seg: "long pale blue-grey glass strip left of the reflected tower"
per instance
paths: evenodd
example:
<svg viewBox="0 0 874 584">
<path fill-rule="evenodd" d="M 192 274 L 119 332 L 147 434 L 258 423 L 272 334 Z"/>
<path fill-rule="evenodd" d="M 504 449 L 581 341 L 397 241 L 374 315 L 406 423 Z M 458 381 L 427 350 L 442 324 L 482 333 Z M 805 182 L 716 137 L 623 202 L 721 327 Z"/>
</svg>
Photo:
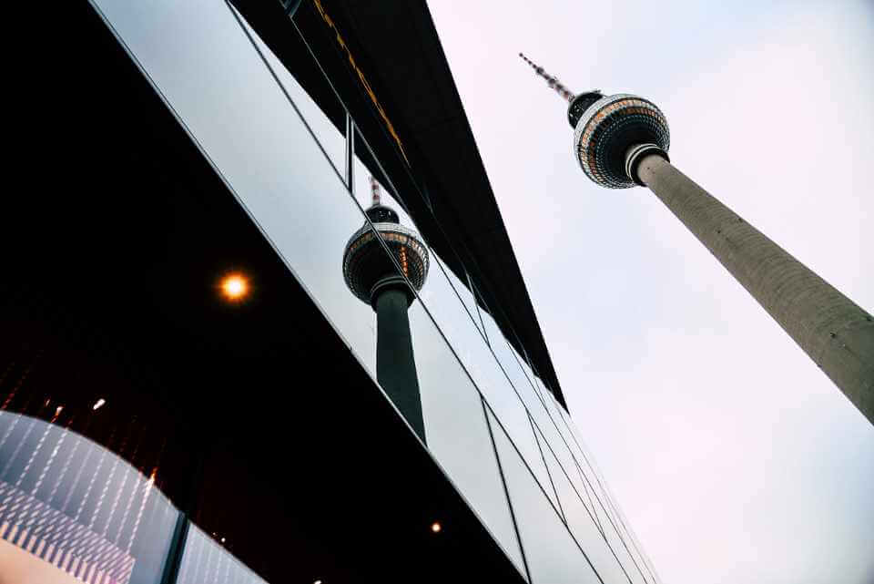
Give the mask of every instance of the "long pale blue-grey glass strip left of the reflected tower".
<svg viewBox="0 0 874 584">
<path fill-rule="evenodd" d="M 188 3 L 102 4 L 291 271 L 375 372 L 374 314 L 342 271 L 346 244 L 364 217 L 233 15 Z M 249 80 L 246 87 L 239 78 Z M 257 288 L 258 274 L 251 279 Z"/>
</svg>

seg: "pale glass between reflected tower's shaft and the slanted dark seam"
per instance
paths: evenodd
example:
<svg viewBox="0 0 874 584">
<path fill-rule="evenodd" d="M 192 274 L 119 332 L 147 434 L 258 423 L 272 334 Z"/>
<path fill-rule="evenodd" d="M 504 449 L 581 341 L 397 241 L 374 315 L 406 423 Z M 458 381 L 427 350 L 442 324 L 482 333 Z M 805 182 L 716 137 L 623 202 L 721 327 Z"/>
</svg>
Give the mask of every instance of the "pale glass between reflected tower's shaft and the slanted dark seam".
<svg viewBox="0 0 874 584">
<path fill-rule="evenodd" d="M 480 395 L 421 302 L 409 316 L 428 448 L 523 573 Z"/>
</svg>

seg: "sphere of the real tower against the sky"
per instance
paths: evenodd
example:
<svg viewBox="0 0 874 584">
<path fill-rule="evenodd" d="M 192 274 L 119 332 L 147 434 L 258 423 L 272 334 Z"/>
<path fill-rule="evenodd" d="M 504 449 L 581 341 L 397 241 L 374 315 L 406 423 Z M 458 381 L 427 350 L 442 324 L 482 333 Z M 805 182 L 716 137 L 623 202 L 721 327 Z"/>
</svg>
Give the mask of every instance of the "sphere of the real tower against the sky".
<svg viewBox="0 0 874 584">
<path fill-rule="evenodd" d="M 638 184 L 635 163 L 644 151 L 656 151 L 667 158 L 671 137 L 667 118 L 662 110 L 643 97 L 627 93 L 599 97 L 582 113 L 574 104 L 585 103 L 595 92 L 580 94 L 568 108 L 568 118 L 574 124 L 576 158 L 589 179 L 608 189 L 628 189 Z M 629 157 L 629 149 L 635 156 Z M 626 168 L 626 161 L 629 163 Z"/>
</svg>

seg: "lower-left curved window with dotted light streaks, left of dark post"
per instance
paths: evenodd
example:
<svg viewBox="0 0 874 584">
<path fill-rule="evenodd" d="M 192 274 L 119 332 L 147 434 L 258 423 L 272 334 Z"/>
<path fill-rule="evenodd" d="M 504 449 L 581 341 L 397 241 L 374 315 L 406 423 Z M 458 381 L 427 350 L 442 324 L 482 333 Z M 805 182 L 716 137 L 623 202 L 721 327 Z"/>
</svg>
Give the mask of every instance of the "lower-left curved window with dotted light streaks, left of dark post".
<svg viewBox="0 0 874 584">
<path fill-rule="evenodd" d="M 63 405 L 43 413 L 0 412 L 3 581 L 159 582 L 179 514 L 155 472 L 73 432 Z"/>
</svg>

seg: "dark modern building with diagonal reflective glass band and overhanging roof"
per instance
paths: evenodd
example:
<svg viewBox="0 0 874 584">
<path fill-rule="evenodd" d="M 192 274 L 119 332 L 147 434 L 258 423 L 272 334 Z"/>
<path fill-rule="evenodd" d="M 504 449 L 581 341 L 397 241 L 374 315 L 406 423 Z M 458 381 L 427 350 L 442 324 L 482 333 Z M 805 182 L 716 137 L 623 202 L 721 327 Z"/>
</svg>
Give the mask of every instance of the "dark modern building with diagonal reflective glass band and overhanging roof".
<svg viewBox="0 0 874 584">
<path fill-rule="evenodd" d="M 0 581 L 659 581 L 424 3 L 51 16 L 5 210 Z"/>
</svg>

